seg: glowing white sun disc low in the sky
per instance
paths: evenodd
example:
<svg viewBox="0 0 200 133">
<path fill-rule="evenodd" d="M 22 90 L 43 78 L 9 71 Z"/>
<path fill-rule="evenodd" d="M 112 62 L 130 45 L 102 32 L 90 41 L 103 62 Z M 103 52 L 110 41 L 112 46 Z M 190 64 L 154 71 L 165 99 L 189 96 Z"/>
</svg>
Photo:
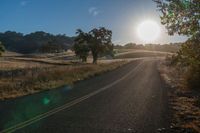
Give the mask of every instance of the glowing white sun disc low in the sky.
<svg viewBox="0 0 200 133">
<path fill-rule="evenodd" d="M 153 42 L 160 35 L 160 26 L 153 20 L 143 21 L 137 27 L 137 35 L 145 43 Z"/>
</svg>

